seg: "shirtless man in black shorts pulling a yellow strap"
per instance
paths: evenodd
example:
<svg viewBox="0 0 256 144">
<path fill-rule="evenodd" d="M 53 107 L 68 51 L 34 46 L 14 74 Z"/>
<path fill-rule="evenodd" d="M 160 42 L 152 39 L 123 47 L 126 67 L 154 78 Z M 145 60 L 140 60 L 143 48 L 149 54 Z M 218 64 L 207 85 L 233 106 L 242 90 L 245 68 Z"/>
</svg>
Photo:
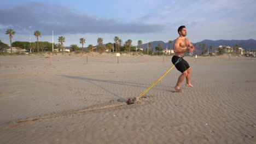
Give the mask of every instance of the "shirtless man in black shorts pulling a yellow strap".
<svg viewBox="0 0 256 144">
<path fill-rule="evenodd" d="M 172 57 L 172 63 L 176 63 L 180 57 L 184 56 L 185 52 L 193 52 L 195 47 L 190 43 L 189 39 L 185 38 L 187 35 L 187 29 L 185 26 L 180 26 L 178 28 L 179 37 L 176 39 L 174 45 L 173 45 L 173 51 L 175 55 Z M 185 61 L 183 58 L 180 62 L 178 62 L 175 67 L 177 70 L 181 71 L 181 75 L 178 78 L 177 84 L 174 87 L 177 91 L 181 86 L 181 83 L 186 78 L 187 83 L 186 86 L 193 87 L 190 83 L 190 77 L 191 77 L 191 68 L 187 61 Z"/>
</svg>

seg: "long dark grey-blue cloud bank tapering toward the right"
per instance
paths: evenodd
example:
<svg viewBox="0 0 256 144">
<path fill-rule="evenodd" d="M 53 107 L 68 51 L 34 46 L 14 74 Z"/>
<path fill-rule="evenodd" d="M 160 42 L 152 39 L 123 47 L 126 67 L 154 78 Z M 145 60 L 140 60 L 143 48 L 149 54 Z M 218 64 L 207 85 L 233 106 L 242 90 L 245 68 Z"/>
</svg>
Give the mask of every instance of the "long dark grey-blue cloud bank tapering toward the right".
<svg viewBox="0 0 256 144">
<path fill-rule="evenodd" d="M 15 11 L 19 9 L 19 11 Z M 79 14 L 59 4 L 24 3 L 10 9 L 0 9 L 0 25 L 13 25 L 15 31 L 29 33 L 41 31 L 50 34 L 52 30 L 62 34 L 74 33 L 147 33 L 160 31 L 160 25 L 146 25 L 137 22 L 120 22 Z M 31 29 L 33 28 L 33 29 Z"/>
</svg>

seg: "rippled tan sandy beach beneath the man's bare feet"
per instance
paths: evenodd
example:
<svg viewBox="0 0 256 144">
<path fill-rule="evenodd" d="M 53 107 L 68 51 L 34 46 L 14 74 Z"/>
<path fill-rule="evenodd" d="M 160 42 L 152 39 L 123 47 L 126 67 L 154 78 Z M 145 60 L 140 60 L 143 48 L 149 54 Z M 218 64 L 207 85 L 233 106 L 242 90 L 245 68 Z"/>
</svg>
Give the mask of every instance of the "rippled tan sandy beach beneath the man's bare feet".
<svg viewBox="0 0 256 144">
<path fill-rule="evenodd" d="M 0 56 L 0 143 L 256 143 L 256 58 Z"/>
</svg>

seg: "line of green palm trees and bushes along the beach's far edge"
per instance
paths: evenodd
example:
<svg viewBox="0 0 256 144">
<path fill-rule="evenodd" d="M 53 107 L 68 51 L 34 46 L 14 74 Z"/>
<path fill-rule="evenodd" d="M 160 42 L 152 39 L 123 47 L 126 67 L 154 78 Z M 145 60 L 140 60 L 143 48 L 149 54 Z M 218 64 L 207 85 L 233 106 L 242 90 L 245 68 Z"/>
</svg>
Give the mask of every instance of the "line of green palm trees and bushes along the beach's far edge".
<svg viewBox="0 0 256 144">
<path fill-rule="evenodd" d="M 15 35 L 15 31 L 13 29 L 7 29 L 7 31 L 5 32 L 5 34 L 8 35 L 9 39 L 10 39 L 10 48 L 11 48 L 11 53 L 12 53 L 12 47 L 21 47 L 22 49 L 26 49 L 26 50 L 32 50 L 33 52 L 40 52 L 40 51 L 53 51 L 53 43 L 49 43 L 48 41 L 39 41 L 39 38 L 41 37 L 41 32 L 40 31 L 34 31 L 34 36 L 36 37 L 37 41 L 33 42 L 33 43 L 29 43 L 27 41 L 15 41 L 14 43 L 12 43 L 12 39 Z M 114 37 L 114 43 L 108 43 L 106 45 L 103 45 L 103 38 L 98 38 L 97 39 L 97 45 L 93 46 L 91 44 L 88 45 L 88 51 L 91 50 L 96 50 L 96 51 L 116 51 L 116 52 L 137 52 L 137 50 L 139 52 L 143 52 L 146 53 L 146 51 L 141 51 L 141 45 L 143 44 L 142 40 L 138 40 L 137 41 L 137 45 L 139 46 L 139 49 L 137 46 L 132 46 L 132 40 L 128 39 L 126 41 L 120 39 L 119 37 L 115 36 Z M 80 38 L 78 40 L 78 42 L 80 44 L 82 44 L 82 48 L 79 48 L 78 45 L 76 44 L 72 44 L 70 45 L 71 50 L 72 51 L 82 51 L 84 52 L 84 45 L 85 45 L 85 38 Z M 59 49 L 63 52 L 64 49 L 64 43 L 66 42 L 65 37 L 60 36 L 58 38 L 58 42 L 59 44 L 54 44 L 54 49 Z M 172 44 L 172 41 L 169 40 L 168 44 Z M 149 43 L 149 53 L 153 53 L 153 49 L 152 49 L 152 44 Z M 206 44 L 195 44 L 195 53 L 198 53 L 200 50 L 197 50 L 197 47 L 199 47 L 201 49 L 201 55 L 205 55 L 208 52 L 213 52 L 216 50 L 216 48 L 214 48 L 213 46 L 210 46 L 210 51 L 208 51 Z M 96 47 L 96 49 L 94 49 L 94 47 Z M 0 51 L 3 51 L 4 49 L 7 49 L 8 45 L 2 43 L 2 41 L 0 41 Z M 157 51 L 159 54 L 161 53 L 162 49 L 162 45 L 158 44 L 158 46 L 154 47 L 155 51 Z M 235 46 L 235 51 L 238 53 L 238 45 Z M 223 53 L 222 49 L 218 49 L 218 53 Z"/>
</svg>

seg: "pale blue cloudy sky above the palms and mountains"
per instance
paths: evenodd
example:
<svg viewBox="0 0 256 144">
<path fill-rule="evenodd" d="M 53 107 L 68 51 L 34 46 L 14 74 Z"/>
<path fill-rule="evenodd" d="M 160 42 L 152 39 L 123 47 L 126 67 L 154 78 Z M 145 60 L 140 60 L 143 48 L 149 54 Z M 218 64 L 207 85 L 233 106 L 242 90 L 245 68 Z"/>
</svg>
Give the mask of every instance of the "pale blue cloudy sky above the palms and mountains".
<svg viewBox="0 0 256 144">
<path fill-rule="evenodd" d="M 94 0 L 94 1 L 3 1 L 0 7 L 0 40 L 9 44 L 8 28 L 16 34 L 13 41 L 40 41 L 66 38 L 65 46 L 113 43 L 115 36 L 125 42 L 174 40 L 177 28 L 187 27 L 187 38 L 196 43 L 204 39 L 256 39 L 255 0 Z"/>
</svg>

